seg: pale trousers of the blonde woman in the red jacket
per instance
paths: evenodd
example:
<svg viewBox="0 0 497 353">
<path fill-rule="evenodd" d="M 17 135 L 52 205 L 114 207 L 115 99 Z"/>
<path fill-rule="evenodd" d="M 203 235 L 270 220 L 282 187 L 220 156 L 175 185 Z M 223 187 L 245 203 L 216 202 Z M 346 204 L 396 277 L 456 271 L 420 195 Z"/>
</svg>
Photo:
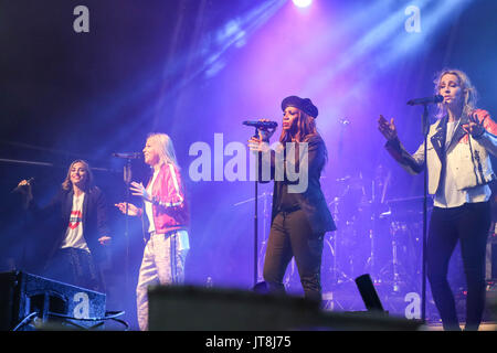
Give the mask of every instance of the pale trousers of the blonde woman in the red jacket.
<svg viewBox="0 0 497 353">
<path fill-rule="evenodd" d="M 182 285 L 189 248 L 186 231 L 152 234 L 147 242 L 136 288 L 138 325 L 141 331 L 148 330 L 148 287 Z"/>
</svg>

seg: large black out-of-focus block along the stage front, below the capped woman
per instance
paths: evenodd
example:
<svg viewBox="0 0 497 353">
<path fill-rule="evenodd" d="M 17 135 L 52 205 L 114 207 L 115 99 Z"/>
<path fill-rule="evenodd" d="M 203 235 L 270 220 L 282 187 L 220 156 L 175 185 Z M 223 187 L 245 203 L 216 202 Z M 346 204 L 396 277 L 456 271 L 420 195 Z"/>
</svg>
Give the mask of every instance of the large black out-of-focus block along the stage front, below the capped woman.
<svg viewBox="0 0 497 353">
<path fill-rule="evenodd" d="M 364 331 L 409 330 L 420 322 L 374 312 L 321 310 L 292 296 L 193 286 L 152 286 L 148 290 L 150 331 Z"/>
</svg>

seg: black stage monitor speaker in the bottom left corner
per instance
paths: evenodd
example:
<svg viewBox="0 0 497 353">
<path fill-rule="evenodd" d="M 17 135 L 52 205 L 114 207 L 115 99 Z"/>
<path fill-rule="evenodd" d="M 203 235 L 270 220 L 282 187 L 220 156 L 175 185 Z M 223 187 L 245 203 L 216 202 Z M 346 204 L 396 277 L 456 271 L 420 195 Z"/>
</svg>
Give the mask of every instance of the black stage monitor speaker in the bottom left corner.
<svg viewBox="0 0 497 353">
<path fill-rule="evenodd" d="M 104 328 L 106 296 L 23 271 L 0 272 L 0 330 Z"/>
</svg>

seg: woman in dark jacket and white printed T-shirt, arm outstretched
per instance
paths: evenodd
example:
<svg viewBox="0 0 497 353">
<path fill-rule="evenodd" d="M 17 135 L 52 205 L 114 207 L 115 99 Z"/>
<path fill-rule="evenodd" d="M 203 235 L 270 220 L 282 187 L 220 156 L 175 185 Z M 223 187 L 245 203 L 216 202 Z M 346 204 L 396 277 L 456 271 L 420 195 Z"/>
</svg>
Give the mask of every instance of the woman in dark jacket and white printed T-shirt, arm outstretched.
<svg viewBox="0 0 497 353">
<path fill-rule="evenodd" d="M 33 200 L 31 185 L 19 183 L 28 208 L 46 222 L 55 217 L 55 232 L 44 240 L 49 258 L 44 276 L 70 285 L 104 291 L 99 264 L 106 259 L 103 245 L 110 242 L 104 194 L 93 183 L 87 162 L 71 163 L 59 193 L 44 207 Z"/>
</svg>

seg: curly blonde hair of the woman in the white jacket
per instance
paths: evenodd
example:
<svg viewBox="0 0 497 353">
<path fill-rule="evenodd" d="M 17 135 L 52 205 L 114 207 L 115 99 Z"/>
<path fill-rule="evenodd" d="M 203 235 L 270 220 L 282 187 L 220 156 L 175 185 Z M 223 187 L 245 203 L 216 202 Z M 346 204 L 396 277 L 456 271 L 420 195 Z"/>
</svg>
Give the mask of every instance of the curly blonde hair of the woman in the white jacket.
<svg viewBox="0 0 497 353">
<path fill-rule="evenodd" d="M 448 74 L 456 75 L 457 78 L 459 78 L 461 89 L 463 90 L 464 95 L 463 116 L 469 116 L 476 109 L 478 93 L 476 92 L 475 86 L 473 86 L 469 77 L 463 71 L 456 68 L 444 68 L 438 72 L 435 76 L 435 79 L 433 81 L 433 83 L 435 84 L 435 95 L 440 94 L 438 86 L 442 77 Z M 436 117 L 440 119 L 443 118 L 446 114 L 447 109 L 445 105 L 438 103 Z"/>
</svg>

